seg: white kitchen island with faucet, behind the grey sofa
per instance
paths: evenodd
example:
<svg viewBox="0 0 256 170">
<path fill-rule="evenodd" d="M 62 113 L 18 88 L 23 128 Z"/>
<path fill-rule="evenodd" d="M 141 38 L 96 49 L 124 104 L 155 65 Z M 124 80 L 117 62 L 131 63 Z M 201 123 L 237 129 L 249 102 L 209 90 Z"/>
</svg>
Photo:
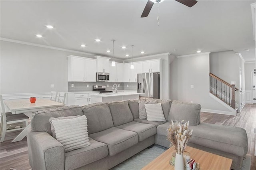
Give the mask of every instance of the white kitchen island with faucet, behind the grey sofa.
<svg viewBox="0 0 256 170">
<path fill-rule="evenodd" d="M 139 95 L 144 93 L 136 93 L 131 91 L 118 91 L 115 93 L 102 93 L 102 94 L 91 94 L 92 103 L 97 102 L 109 102 L 116 100 L 128 100 L 128 99 L 138 99 Z"/>
</svg>

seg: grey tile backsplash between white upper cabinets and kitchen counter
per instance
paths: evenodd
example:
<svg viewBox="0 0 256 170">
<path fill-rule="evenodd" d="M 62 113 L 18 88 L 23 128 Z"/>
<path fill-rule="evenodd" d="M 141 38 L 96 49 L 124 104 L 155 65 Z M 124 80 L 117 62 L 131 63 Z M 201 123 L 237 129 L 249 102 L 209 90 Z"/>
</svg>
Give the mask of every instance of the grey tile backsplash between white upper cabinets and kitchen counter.
<svg viewBox="0 0 256 170">
<path fill-rule="evenodd" d="M 74 87 L 71 87 L 71 85 L 74 85 Z M 119 84 L 118 90 L 134 90 L 136 91 L 136 83 L 116 83 Z M 89 87 L 87 87 L 89 85 Z M 68 92 L 74 92 L 74 91 L 92 91 L 93 85 L 105 85 L 106 90 L 112 90 L 112 87 L 114 83 L 110 82 L 68 82 Z M 125 85 L 125 87 L 124 87 Z M 127 85 L 129 87 L 127 87 Z M 108 87 L 107 87 L 108 86 Z"/>
</svg>

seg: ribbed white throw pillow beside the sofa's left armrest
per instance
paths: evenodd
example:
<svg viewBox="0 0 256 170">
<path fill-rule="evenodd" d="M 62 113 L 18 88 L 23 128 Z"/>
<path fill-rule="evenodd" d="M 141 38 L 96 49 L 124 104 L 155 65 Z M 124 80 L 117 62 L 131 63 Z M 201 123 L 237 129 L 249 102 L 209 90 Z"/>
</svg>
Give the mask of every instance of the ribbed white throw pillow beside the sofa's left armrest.
<svg viewBox="0 0 256 170">
<path fill-rule="evenodd" d="M 87 132 L 87 118 L 82 116 L 51 117 L 52 135 L 65 147 L 65 151 L 90 145 Z"/>
</svg>

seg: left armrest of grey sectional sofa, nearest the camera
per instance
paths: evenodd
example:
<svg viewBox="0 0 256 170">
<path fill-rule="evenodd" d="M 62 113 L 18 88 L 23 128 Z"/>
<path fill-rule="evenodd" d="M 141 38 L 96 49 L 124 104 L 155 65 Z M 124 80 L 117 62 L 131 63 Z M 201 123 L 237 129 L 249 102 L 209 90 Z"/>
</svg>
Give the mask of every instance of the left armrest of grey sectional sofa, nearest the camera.
<svg viewBox="0 0 256 170">
<path fill-rule="evenodd" d="M 28 128 L 28 155 L 32 169 L 64 170 L 65 148 L 47 132 L 34 132 Z"/>
</svg>

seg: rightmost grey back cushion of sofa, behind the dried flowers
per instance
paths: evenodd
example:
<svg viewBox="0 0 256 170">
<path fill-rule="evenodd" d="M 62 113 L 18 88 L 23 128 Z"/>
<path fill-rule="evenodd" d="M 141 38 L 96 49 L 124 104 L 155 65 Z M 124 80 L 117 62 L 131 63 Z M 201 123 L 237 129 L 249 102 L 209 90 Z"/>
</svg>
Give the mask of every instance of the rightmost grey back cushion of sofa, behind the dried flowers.
<svg viewBox="0 0 256 170">
<path fill-rule="evenodd" d="M 200 123 L 201 105 L 196 103 L 187 103 L 182 101 L 173 101 L 168 121 L 185 122 L 189 121 L 189 125 L 198 125 Z"/>
</svg>

